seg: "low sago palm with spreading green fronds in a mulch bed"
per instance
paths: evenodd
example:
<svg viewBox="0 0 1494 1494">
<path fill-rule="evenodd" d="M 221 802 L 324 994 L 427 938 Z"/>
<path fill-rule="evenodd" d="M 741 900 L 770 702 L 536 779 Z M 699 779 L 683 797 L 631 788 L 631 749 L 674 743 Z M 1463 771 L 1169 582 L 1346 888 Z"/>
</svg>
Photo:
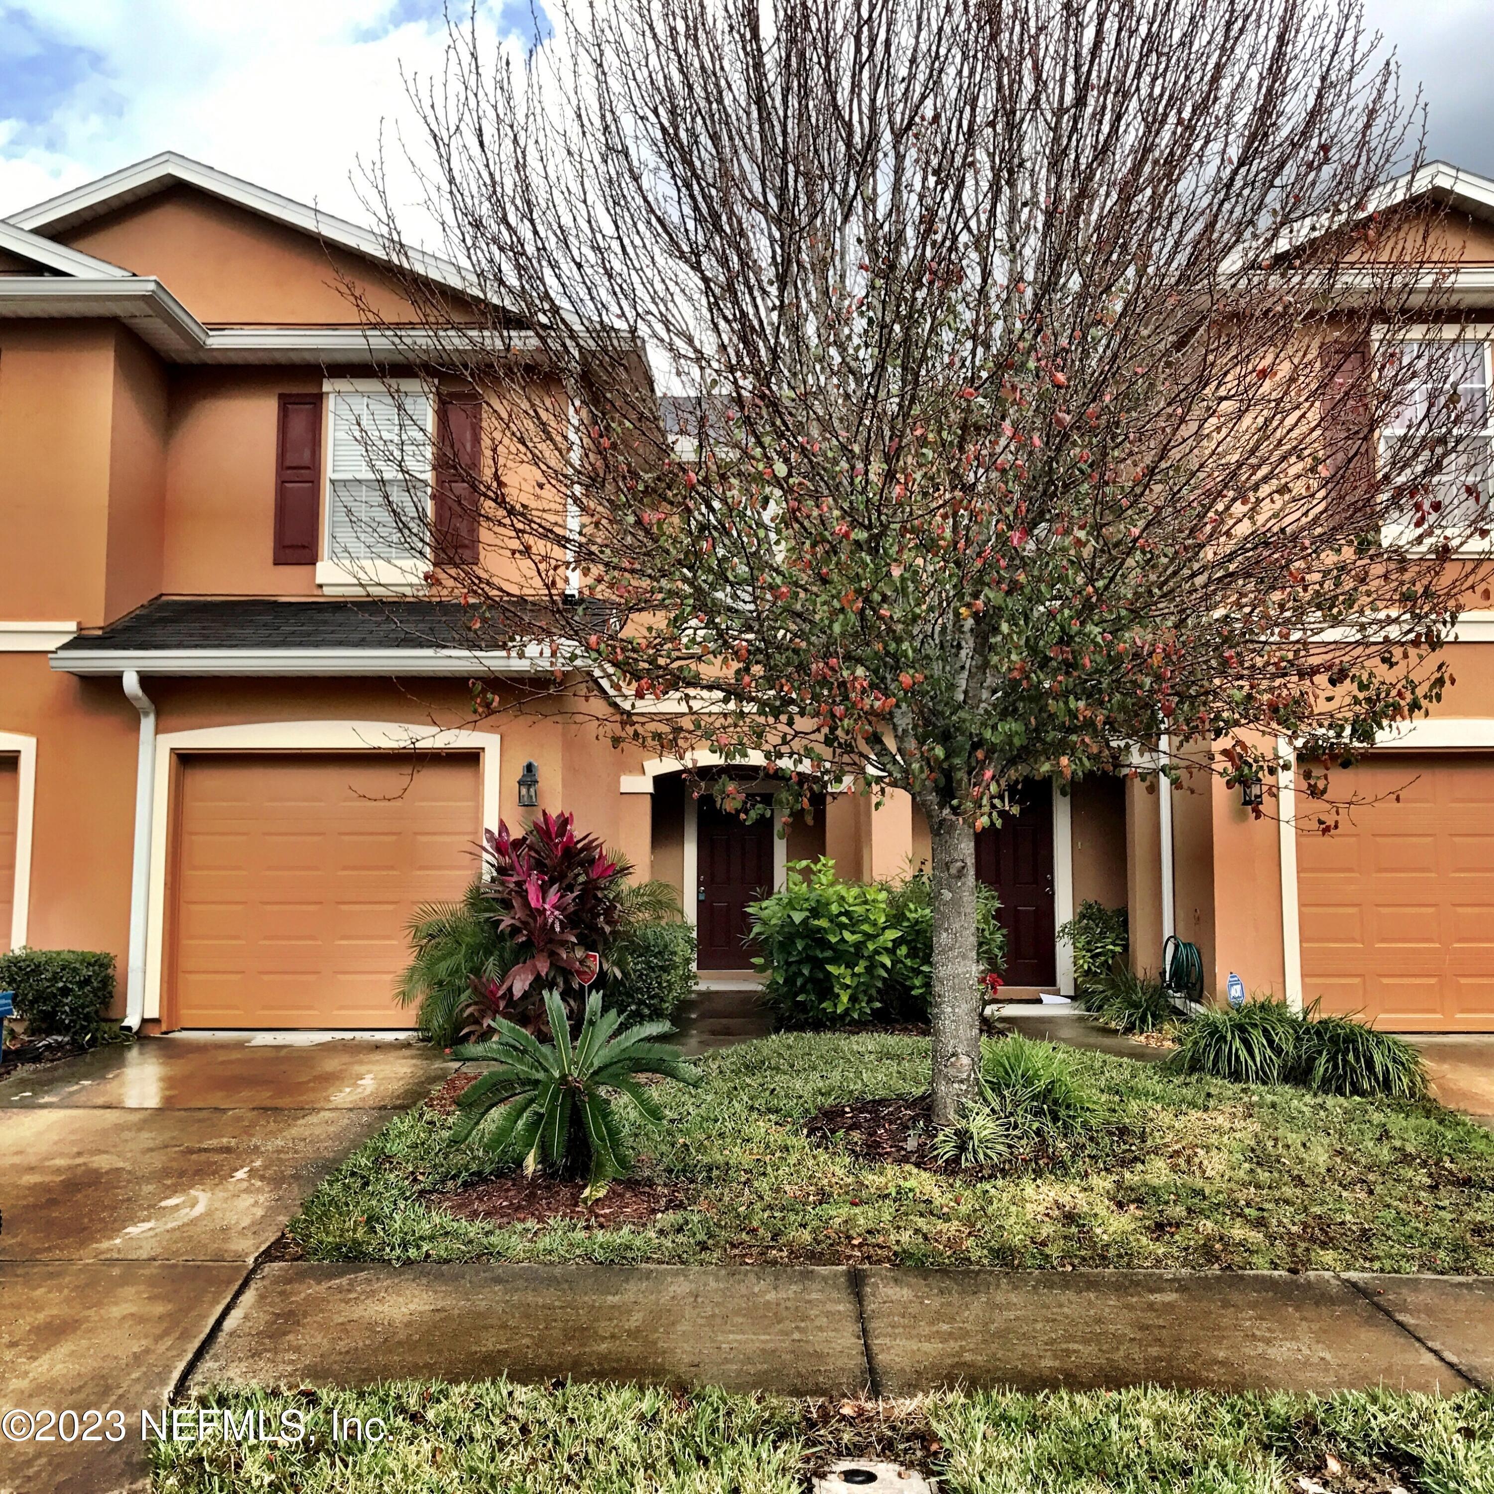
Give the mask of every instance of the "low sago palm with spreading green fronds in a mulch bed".
<svg viewBox="0 0 1494 1494">
<path fill-rule="evenodd" d="M 556 992 L 545 992 L 545 1008 L 554 1034 L 551 1043 L 499 1020 L 490 1041 L 456 1050 L 457 1058 L 493 1068 L 457 1098 L 460 1113 L 451 1140 L 456 1144 L 471 1140 L 499 1110 L 483 1137 L 489 1150 L 523 1156 L 526 1176 L 539 1167 L 562 1176 L 584 1173 L 587 1186 L 581 1197 L 590 1203 L 632 1165 L 607 1092 L 627 1095 L 644 1119 L 659 1126 L 663 1110 L 636 1076 L 663 1074 L 686 1085 L 701 1080 L 677 1047 L 651 1041 L 672 1031 L 668 1022 L 641 1022 L 617 1032 L 622 1017 L 604 1011 L 601 995 L 593 992 L 572 1041 Z"/>
</svg>

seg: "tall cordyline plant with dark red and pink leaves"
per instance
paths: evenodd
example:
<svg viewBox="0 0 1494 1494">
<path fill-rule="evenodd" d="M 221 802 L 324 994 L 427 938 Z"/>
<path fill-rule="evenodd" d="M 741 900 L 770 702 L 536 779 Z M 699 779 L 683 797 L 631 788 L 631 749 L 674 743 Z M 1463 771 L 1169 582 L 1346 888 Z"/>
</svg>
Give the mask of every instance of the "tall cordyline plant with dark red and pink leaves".
<svg viewBox="0 0 1494 1494">
<path fill-rule="evenodd" d="M 610 856 L 598 837 L 577 835 L 569 813 L 547 810 L 517 837 L 500 822 L 484 840 L 487 893 L 520 958 L 478 994 L 496 1016 L 509 1016 L 532 986 L 574 1004 L 602 971 L 604 950 L 622 925 L 617 892 L 626 862 Z"/>
</svg>

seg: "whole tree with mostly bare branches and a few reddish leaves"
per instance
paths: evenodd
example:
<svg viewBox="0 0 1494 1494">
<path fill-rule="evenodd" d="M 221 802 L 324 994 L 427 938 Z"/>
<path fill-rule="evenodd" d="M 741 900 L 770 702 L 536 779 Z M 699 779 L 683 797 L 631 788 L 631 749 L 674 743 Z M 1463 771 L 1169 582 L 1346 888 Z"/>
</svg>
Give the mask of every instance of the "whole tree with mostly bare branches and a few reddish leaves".
<svg viewBox="0 0 1494 1494">
<path fill-rule="evenodd" d="M 439 583 L 542 599 L 619 741 L 763 753 L 780 816 L 914 796 L 940 1120 L 1023 781 L 1270 781 L 1442 690 L 1485 417 L 1376 46 L 1358 0 L 608 0 L 415 90 L 471 297 L 411 255 L 381 332 L 486 405 Z"/>
</svg>

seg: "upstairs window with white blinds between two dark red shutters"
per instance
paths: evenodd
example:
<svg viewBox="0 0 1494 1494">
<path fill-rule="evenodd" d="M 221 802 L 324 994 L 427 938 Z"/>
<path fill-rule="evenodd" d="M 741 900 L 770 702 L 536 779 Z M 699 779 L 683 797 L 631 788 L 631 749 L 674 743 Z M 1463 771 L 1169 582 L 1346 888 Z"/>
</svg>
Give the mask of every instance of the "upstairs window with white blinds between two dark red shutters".
<svg viewBox="0 0 1494 1494">
<path fill-rule="evenodd" d="M 329 379 L 326 592 L 420 590 L 430 571 L 435 409 L 418 382 Z"/>
</svg>

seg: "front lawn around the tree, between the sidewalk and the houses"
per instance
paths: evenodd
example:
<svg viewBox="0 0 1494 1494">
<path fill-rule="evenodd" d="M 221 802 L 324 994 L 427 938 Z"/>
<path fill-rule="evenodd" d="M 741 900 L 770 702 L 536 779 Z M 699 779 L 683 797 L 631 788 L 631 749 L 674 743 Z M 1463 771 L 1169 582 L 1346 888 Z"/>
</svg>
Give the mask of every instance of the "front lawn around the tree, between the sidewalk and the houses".
<svg viewBox="0 0 1494 1494">
<path fill-rule="evenodd" d="M 868 1162 L 817 1110 L 926 1086 L 928 1043 L 783 1035 L 665 1083 L 641 1179 L 680 1207 L 633 1225 L 457 1219 L 432 1195 L 495 1170 L 417 1107 L 357 1150 L 291 1234 L 321 1261 L 740 1261 L 1231 1267 L 1494 1274 L 1494 1134 L 1434 1104 L 1198 1080 L 1064 1049 L 1107 1126 L 1061 1167 L 996 1177 Z M 624 1115 L 629 1113 L 623 1107 Z"/>
</svg>

